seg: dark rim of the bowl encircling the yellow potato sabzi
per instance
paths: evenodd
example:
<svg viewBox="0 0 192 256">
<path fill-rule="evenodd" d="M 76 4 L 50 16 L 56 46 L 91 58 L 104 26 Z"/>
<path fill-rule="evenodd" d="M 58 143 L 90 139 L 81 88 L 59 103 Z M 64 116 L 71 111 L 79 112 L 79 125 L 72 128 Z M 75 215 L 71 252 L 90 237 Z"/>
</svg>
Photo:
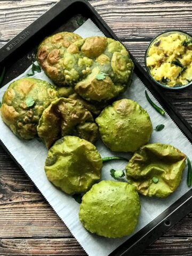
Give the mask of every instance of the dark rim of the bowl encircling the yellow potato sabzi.
<svg viewBox="0 0 192 256">
<path fill-rule="evenodd" d="M 150 73 L 150 68 L 147 66 L 147 57 L 148 57 L 148 52 L 149 52 L 150 46 L 151 46 L 153 43 L 155 43 L 156 41 L 158 41 L 158 38 L 160 38 L 160 37 L 162 37 L 162 36 L 169 36 L 169 35 L 174 34 L 174 33 L 179 33 L 179 34 L 185 35 L 185 36 L 189 37 L 189 38 L 192 40 L 192 37 L 191 37 L 188 33 L 186 33 L 185 31 L 182 31 L 182 30 L 167 30 L 167 31 L 165 31 L 165 32 L 163 32 L 163 33 L 161 33 L 161 34 L 159 34 L 159 35 L 156 36 L 156 37 L 149 43 L 149 45 L 147 46 L 147 49 L 146 49 L 146 52 L 145 52 L 145 66 L 146 66 L 146 70 L 147 70 L 147 73 L 148 73 L 149 77 L 150 77 L 157 85 L 159 85 L 159 86 L 161 86 L 161 87 L 164 87 L 164 88 L 166 88 L 166 89 L 170 89 L 170 90 L 180 90 L 180 89 L 186 88 L 186 87 L 188 87 L 189 85 L 191 85 L 191 84 L 192 84 L 192 81 L 189 82 L 189 83 L 186 84 L 186 85 L 175 85 L 174 87 L 170 87 L 169 85 L 164 85 L 164 84 L 162 84 L 162 83 L 156 81 L 156 80 L 154 79 L 154 77 L 153 77 L 153 76 L 151 75 L 151 73 Z"/>
</svg>

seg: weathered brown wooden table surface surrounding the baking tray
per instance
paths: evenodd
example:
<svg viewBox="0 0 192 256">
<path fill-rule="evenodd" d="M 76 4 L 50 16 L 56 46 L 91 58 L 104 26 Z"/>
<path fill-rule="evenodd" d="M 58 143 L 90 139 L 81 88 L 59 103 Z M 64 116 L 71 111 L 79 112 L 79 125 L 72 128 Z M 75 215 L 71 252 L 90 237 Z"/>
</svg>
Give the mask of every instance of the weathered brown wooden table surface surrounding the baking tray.
<svg viewBox="0 0 192 256">
<path fill-rule="evenodd" d="M 0 47 L 58 0 L 0 1 Z M 143 65 L 148 42 L 166 29 L 192 34 L 192 1 L 91 0 L 101 17 Z M 169 100 L 192 124 L 192 86 Z M 27 175 L 0 148 L 0 255 L 86 255 Z M 192 213 L 142 255 L 192 255 Z M 102 256 L 102 255 L 98 255 Z M 130 255 L 132 256 L 132 255 Z"/>
</svg>

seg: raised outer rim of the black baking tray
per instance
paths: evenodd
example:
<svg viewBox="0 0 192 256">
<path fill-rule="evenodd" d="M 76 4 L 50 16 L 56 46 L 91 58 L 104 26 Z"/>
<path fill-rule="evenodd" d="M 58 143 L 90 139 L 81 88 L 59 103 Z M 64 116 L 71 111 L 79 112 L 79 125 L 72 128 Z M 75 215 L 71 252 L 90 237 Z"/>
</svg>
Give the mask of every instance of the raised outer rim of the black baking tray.
<svg viewBox="0 0 192 256">
<path fill-rule="evenodd" d="M 50 22 L 53 19 L 52 15 L 50 15 L 52 12 L 54 12 L 54 17 L 55 17 L 55 15 L 59 15 L 61 12 L 66 11 L 68 7 L 70 7 L 73 4 L 83 4 L 84 6 L 86 6 L 87 10 L 89 10 L 89 12 L 93 14 L 93 17 L 91 17 L 91 19 L 94 18 L 94 22 L 101 29 L 101 31 L 105 30 L 103 31 L 104 34 L 107 33 L 110 35 L 110 37 L 113 37 L 114 39 L 117 39 L 118 41 L 120 41 L 118 37 L 114 34 L 113 30 L 109 28 L 106 22 L 100 17 L 97 11 L 94 10 L 93 6 L 89 2 L 87 2 L 86 0 L 60 0 L 60 2 L 54 4 L 49 10 L 47 10 L 44 14 L 42 14 L 41 17 L 39 17 L 37 20 L 31 23 L 26 29 L 22 30 L 21 33 L 19 33 L 17 36 L 11 39 L 8 43 L 6 43 L 0 49 L 0 66 L 2 65 L 4 60 L 10 56 L 10 54 L 17 51 L 17 49 L 23 43 L 27 42 L 35 33 L 37 33 L 38 30 L 36 29 L 42 29 L 47 24 L 47 22 Z M 73 16 L 73 14 L 71 14 L 71 16 Z M 42 22 L 39 22 L 40 20 Z M 41 23 L 40 27 L 39 27 L 39 23 Z M 9 47 L 9 45 L 13 44 L 14 42 L 17 42 L 17 39 L 21 38 L 21 36 L 25 34 L 26 31 L 30 31 L 30 30 L 31 30 L 31 33 L 29 37 L 26 36 L 22 40 L 18 41 L 17 44 L 13 45 L 11 49 L 7 50 L 7 46 Z M 192 127 L 189 125 L 186 119 L 179 113 L 179 111 L 172 105 L 172 103 L 166 99 L 166 97 L 162 93 L 162 90 L 159 89 L 154 84 L 154 82 L 149 78 L 145 69 L 141 67 L 141 65 L 135 60 L 133 55 L 131 53 L 130 55 L 135 65 L 135 69 L 134 69 L 135 74 L 138 75 L 138 77 L 146 85 L 148 90 L 161 103 L 163 108 L 165 108 L 166 112 L 170 115 L 173 122 L 177 124 L 178 129 L 180 129 L 181 132 L 184 133 L 185 136 L 188 138 L 189 142 L 192 143 Z M 3 144 L 1 140 L 0 140 L 0 145 L 4 148 L 7 154 L 11 156 L 11 158 L 19 166 L 19 168 L 25 172 L 23 167 L 17 162 L 17 159 L 13 157 L 9 149 L 6 148 L 6 146 Z M 118 246 L 117 249 L 115 249 L 109 255 L 123 256 L 123 255 L 127 255 L 127 253 L 129 253 L 129 255 L 134 255 L 134 256 L 139 255 L 143 250 L 145 250 L 145 248 L 149 244 L 155 242 L 156 239 L 158 239 L 163 233 L 165 233 L 175 223 L 177 223 L 179 220 L 185 217 L 185 215 L 187 215 L 191 210 L 192 210 L 192 189 L 190 189 L 185 195 L 180 197 L 175 203 L 173 203 L 163 213 L 159 214 L 158 217 L 156 217 L 148 225 L 146 225 L 141 230 L 139 230 L 138 233 L 134 234 L 131 238 L 127 239 L 126 242 Z M 170 221 L 169 225 L 166 225 L 167 220 Z"/>
</svg>

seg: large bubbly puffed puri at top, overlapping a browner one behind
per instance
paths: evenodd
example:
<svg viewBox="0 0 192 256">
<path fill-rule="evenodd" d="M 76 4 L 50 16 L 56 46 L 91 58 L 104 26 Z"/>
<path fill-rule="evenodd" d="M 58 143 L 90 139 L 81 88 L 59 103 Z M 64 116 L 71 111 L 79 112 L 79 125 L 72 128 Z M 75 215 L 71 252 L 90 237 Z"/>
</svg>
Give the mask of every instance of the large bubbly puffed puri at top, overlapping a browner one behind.
<svg viewBox="0 0 192 256">
<path fill-rule="evenodd" d="M 131 82 L 133 62 L 125 47 L 114 39 L 93 36 L 71 44 L 63 57 L 65 79 L 88 101 L 108 101 Z M 107 74 L 97 79 L 100 73 Z"/>
</svg>

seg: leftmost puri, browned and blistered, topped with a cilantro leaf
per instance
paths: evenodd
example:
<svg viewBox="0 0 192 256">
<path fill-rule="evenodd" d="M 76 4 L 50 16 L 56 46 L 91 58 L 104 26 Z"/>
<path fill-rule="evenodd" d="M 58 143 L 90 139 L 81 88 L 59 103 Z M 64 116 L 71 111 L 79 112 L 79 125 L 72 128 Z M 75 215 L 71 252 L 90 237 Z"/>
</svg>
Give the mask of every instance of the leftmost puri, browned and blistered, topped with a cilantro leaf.
<svg viewBox="0 0 192 256">
<path fill-rule="evenodd" d="M 37 135 L 43 110 L 58 98 L 55 86 L 35 78 L 22 78 L 9 85 L 3 95 L 1 116 L 12 132 L 21 139 Z M 26 102 L 32 102 L 27 106 Z"/>
</svg>

